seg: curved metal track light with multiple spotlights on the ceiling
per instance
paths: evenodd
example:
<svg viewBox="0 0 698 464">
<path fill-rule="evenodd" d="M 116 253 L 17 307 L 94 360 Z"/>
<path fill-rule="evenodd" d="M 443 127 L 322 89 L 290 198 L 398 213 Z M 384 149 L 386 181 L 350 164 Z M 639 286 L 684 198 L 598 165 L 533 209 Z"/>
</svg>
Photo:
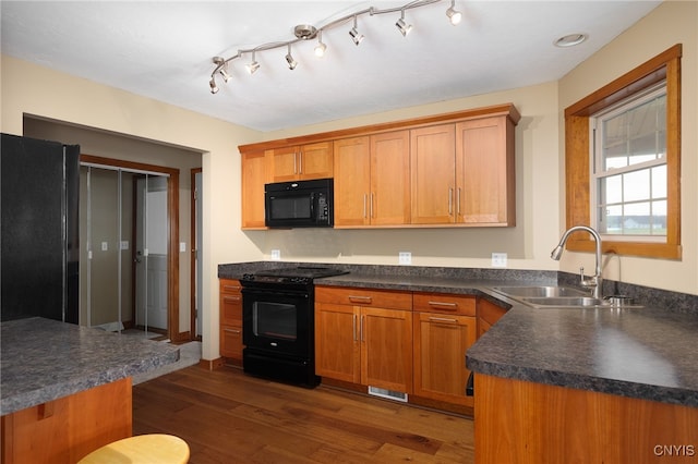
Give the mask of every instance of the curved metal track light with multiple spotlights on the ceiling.
<svg viewBox="0 0 698 464">
<path fill-rule="evenodd" d="M 285 57 L 286 64 L 288 65 L 289 70 L 294 70 L 296 66 L 298 65 L 298 62 L 291 54 L 291 45 L 293 44 L 297 44 L 303 40 L 313 40 L 317 38 L 317 45 L 315 45 L 314 47 L 314 52 L 316 57 L 322 58 L 325 56 L 325 51 L 327 50 L 327 46 L 323 42 L 324 30 L 329 30 L 337 26 L 346 24 L 349 21 L 353 21 L 353 27 L 351 27 L 351 29 L 349 30 L 349 36 L 351 37 L 351 40 L 354 42 L 354 45 L 358 46 L 359 44 L 361 44 L 361 41 L 364 38 L 363 34 L 359 33 L 359 29 L 357 26 L 359 16 L 361 15 L 375 16 L 378 14 L 393 14 L 397 12 L 400 13 L 400 19 L 397 20 L 397 22 L 395 23 L 395 26 L 400 30 L 400 34 L 402 34 L 402 36 L 407 36 L 412 29 L 412 25 L 407 24 L 405 22 L 405 12 L 407 10 L 426 7 L 429 4 L 438 3 L 441 1 L 443 0 L 411 0 L 410 2 L 401 7 L 386 8 L 386 9 L 369 7 L 366 9 L 354 11 L 353 13 L 336 19 L 318 27 L 315 27 L 309 24 L 299 24 L 293 28 L 293 35 L 296 36 L 296 38 L 292 38 L 290 40 L 273 41 L 268 44 L 258 45 L 254 48 L 241 49 L 241 50 L 238 50 L 238 52 L 230 58 L 214 57 L 213 62 L 215 64 L 215 69 L 210 73 L 210 81 L 208 82 L 208 85 L 210 87 L 210 93 L 212 94 L 218 93 L 218 86 L 216 85 L 216 76 L 220 75 L 226 83 L 230 81 L 231 78 L 231 73 L 229 72 L 230 63 L 233 60 L 242 58 L 242 56 L 245 53 L 252 53 L 252 61 L 249 64 L 246 64 L 245 68 L 248 69 L 248 72 L 250 74 L 254 74 L 260 69 L 260 63 L 255 59 L 256 52 L 287 47 L 288 52 L 286 53 L 286 57 Z M 456 10 L 456 0 L 450 0 L 450 7 L 446 10 L 446 16 L 448 17 L 448 21 L 450 22 L 450 24 L 454 24 L 454 25 L 460 23 L 460 21 L 462 20 L 462 13 Z"/>
</svg>

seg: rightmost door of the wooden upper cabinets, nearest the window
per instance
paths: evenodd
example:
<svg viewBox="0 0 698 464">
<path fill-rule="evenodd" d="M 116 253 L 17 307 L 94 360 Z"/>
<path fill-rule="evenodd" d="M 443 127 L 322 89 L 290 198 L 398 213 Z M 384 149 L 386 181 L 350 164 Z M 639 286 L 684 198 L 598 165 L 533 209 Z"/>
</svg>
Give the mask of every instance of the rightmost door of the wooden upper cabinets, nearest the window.
<svg viewBox="0 0 698 464">
<path fill-rule="evenodd" d="M 508 118 L 456 124 L 456 154 L 457 222 L 515 225 L 514 126 Z"/>
</svg>

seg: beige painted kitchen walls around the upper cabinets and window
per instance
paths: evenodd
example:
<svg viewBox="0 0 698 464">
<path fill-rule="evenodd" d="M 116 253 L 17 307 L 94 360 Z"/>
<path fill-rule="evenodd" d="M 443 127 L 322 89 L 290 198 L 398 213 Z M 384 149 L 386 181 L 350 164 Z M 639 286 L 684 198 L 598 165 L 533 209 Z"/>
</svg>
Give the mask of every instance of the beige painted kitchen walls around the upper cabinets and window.
<svg viewBox="0 0 698 464">
<path fill-rule="evenodd" d="M 666 28 L 666 24 L 672 24 Z M 647 27 L 645 26 L 647 25 Z M 684 259 L 625 258 L 624 281 L 698 293 L 696 279 L 696 3 L 665 4 L 618 37 L 559 83 L 488 94 L 261 134 L 111 87 L 2 57 L 1 130 L 22 134 L 23 113 L 130 134 L 203 152 L 204 358 L 218 356 L 217 265 L 269 259 L 397 264 L 411 252 L 414 265 L 489 267 L 492 252 L 506 252 L 509 267 L 557 269 L 550 259 L 564 229 L 562 111 L 566 106 L 646 61 L 684 42 L 683 236 Z M 642 26 L 642 29 L 639 27 Z M 604 63 L 603 69 L 599 63 Z M 606 64 L 607 63 L 607 64 Z M 50 85 L 46 85 L 49 82 Z M 208 98 L 203 95 L 202 98 Z M 240 231 L 240 158 L 237 146 L 510 101 L 521 112 L 516 130 L 517 225 L 510 229 Z M 562 269 L 592 268 L 588 254 L 567 254 Z M 617 273 L 609 266 L 611 277 Z"/>
</svg>

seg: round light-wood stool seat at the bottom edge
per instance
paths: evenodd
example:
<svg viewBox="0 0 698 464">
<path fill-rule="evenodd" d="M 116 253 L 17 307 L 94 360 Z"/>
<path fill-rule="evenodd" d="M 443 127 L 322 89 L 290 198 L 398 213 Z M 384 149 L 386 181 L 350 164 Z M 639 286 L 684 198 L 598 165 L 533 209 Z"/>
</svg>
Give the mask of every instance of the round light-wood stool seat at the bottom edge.
<svg viewBox="0 0 698 464">
<path fill-rule="evenodd" d="M 151 434 L 124 438 L 106 444 L 77 464 L 186 464 L 189 445 L 172 435 Z"/>
</svg>

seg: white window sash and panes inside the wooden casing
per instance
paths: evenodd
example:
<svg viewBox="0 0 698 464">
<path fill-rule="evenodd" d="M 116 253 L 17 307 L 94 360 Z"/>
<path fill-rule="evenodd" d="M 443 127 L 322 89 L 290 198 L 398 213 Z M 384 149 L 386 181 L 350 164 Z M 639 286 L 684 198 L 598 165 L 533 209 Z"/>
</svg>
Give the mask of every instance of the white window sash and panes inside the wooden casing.
<svg viewBox="0 0 698 464">
<path fill-rule="evenodd" d="M 604 240 L 666 241 L 666 84 L 591 118 L 592 223 Z"/>
</svg>

